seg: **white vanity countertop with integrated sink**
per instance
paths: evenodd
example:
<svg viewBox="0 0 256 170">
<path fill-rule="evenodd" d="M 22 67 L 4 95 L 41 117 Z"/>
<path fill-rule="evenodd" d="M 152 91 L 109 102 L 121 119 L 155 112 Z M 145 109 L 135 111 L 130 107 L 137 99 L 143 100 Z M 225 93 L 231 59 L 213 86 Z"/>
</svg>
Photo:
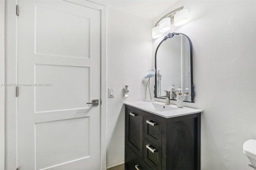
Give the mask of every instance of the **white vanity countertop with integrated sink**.
<svg viewBox="0 0 256 170">
<path fill-rule="evenodd" d="M 165 105 L 165 103 L 158 102 L 158 101 L 155 101 L 155 102 L 132 101 L 132 102 L 125 102 L 124 104 L 135 107 L 137 109 L 141 109 L 143 111 L 153 113 L 161 117 L 165 117 L 165 118 L 190 115 L 193 113 L 200 113 L 203 111 L 202 109 L 193 109 L 189 107 L 177 108 L 176 105 Z"/>
</svg>

